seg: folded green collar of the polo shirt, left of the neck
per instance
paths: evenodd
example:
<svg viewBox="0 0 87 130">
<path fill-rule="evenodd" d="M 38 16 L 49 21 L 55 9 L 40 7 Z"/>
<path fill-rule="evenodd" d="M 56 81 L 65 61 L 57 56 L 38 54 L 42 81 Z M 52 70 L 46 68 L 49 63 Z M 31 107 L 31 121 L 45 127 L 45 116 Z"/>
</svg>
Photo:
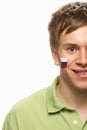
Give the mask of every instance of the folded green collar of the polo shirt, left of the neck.
<svg viewBox="0 0 87 130">
<path fill-rule="evenodd" d="M 59 77 L 56 77 L 54 82 L 50 87 L 47 89 L 47 110 L 48 113 L 56 113 L 64 109 L 64 105 L 58 100 L 56 95 L 56 87 L 59 83 Z"/>
</svg>

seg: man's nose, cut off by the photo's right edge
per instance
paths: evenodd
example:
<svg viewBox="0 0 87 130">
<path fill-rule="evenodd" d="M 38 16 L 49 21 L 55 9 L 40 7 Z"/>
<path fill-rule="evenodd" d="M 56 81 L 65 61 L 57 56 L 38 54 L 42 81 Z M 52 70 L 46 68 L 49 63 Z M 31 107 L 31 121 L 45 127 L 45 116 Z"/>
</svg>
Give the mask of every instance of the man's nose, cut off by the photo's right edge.
<svg viewBox="0 0 87 130">
<path fill-rule="evenodd" d="M 87 50 L 80 52 L 76 63 L 80 66 L 87 67 Z"/>
</svg>

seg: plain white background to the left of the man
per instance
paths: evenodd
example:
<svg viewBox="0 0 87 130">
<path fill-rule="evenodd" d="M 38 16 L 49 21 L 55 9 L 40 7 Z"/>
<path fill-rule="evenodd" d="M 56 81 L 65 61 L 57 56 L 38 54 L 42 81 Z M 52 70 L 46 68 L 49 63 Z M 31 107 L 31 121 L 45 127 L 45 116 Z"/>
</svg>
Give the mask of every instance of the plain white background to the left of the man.
<svg viewBox="0 0 87 130">
<path fill-rule="evenodd" d="M 50 85 L 59 74 L 47 26 L 51 14 L 72 1 L 0 1 L 0 129 L 16 102 Z"/>
</svg>

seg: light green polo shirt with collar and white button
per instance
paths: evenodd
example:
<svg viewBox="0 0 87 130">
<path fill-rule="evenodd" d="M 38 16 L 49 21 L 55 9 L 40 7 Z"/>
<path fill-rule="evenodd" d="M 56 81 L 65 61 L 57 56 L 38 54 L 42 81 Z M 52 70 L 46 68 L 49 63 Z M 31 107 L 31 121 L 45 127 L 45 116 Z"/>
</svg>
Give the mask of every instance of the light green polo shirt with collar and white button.
<svg viewBox="0 0 87 130">
<path fill-rule="evenodd" d="M 8 113 L 2 130 L 87 130 L 78 113 L 65 107 L 53 84 L 18 102 Z"/>
</svg>

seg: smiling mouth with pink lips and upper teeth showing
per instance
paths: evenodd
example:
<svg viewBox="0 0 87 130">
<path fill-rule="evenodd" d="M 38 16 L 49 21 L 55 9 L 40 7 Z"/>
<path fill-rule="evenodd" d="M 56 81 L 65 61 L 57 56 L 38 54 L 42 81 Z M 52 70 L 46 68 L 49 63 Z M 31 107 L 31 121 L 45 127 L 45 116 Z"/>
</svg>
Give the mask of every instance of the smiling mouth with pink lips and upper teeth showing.
<svg viewBox="0 0 87 130">
<path fill-rule="evenodd" d="M 74 75 L 80 79 L 87 79 L 87 69 L 71 69 Z"/>
</svg>

